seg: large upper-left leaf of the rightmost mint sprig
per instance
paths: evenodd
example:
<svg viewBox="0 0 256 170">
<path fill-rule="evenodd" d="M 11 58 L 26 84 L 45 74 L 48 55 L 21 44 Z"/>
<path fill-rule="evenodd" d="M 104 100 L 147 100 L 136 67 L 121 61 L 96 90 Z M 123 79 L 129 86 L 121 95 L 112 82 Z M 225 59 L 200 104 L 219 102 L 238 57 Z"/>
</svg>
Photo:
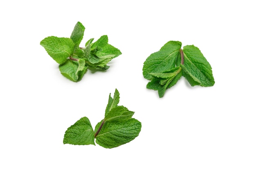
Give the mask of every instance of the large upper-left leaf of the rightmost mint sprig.
<svg viewBox="0 0 256 170">
<path fill-rule="evenodd" d="M 176 58 L 181 48 L 180 41 L 168 41 L 158 52 L 151 54 L 143 65 L 143 76 L 151 79 L 149 73 L 161 73 L 175 68 Z"/>
</svg>

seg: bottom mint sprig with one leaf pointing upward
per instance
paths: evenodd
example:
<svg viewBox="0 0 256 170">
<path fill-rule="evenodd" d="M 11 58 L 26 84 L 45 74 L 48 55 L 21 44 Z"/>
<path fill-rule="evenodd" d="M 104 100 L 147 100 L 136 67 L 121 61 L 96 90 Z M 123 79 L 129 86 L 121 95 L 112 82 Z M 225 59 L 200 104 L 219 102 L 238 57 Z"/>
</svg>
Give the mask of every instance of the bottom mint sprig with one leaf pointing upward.
<svg viewBox="0 0 256 170">
<path fill-rule="evenodd" d="M 118 106 L 117 89 L 113 98 L 110 95 L 105 117 L 96 125 L 94 131 L 89 119 L 83 117 L 67 129 L 63 139 L 64 144 L 95 145 L 94 139 L 96 139 L 96 143 L 104 148 L 115 148 L 132 141 L 139 135 L 141 122 L 132 118 L 134 112 L 124 106 Z"/>
</svg>

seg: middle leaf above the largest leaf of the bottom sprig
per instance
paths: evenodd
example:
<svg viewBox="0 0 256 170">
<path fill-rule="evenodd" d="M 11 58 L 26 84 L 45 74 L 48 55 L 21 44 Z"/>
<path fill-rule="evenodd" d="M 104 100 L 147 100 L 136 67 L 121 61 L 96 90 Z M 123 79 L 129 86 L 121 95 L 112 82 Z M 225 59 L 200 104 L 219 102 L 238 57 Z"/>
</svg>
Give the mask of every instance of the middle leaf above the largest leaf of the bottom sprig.
<svg viewBox="0 0 256 170">
<path fill-rule="evenodd" d="M 129 111 L 124 106 L 116 106 L 108 112 L 107 116 L 105 116 L 104 121 L 125 121 L 132 118 L 133 114 L 133 111 Z"/>
</svg>

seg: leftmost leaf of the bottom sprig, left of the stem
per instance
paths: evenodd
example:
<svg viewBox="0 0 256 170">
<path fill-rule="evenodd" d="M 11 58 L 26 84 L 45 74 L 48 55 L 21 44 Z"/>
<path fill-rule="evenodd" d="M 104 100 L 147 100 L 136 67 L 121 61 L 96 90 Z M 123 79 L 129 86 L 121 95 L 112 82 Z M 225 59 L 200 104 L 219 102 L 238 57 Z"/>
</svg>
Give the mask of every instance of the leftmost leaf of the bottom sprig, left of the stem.
<svg viewBox="0 0 256 170">
<path fill-rule="evenodd" d="M 94 143 L 94 131 L 88 118 L 83 117 L 65 132 L 64 144 L 90 145 Z"/>
</svg>

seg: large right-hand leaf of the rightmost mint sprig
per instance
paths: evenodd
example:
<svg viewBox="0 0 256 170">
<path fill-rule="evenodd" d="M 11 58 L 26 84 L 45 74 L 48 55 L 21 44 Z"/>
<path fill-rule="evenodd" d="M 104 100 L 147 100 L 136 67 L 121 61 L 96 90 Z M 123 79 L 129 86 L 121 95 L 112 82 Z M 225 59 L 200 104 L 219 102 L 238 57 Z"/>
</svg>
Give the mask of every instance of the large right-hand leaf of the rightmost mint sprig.
<svg viewBox="0 0 256 170">
<path fill-rule="evenodd" d="M 213 86 L 214 78 L 211 70 L 211 65 L 205 59 L 199 48 L 195 46 L 184 46 L 184 76 L 189 83 L 201 86 Z"/>
</svg>

